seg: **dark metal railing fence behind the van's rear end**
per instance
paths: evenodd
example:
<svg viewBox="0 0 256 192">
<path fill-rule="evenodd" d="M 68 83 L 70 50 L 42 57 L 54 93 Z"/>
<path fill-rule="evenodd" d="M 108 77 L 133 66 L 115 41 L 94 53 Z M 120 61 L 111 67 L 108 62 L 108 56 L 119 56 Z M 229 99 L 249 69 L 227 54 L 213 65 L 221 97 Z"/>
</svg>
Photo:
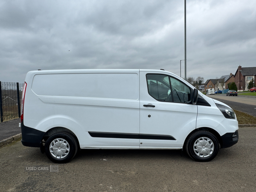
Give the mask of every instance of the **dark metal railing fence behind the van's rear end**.
<svg viewBox="0 0 256 192">
<path fill-rule="evenodd" d="M 0 81 L 1 122 L 20 117 L 21 95 L 24 84 Z"/>
</svg>

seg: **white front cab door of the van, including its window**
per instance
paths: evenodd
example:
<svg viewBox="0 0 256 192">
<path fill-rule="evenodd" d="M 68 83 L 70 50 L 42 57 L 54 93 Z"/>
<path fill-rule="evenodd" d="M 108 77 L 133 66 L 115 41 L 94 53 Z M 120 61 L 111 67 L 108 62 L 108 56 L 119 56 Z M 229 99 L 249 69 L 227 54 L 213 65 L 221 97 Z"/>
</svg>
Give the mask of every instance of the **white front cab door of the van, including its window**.
<svg viewBox="0 0 256 192">
<path fill-rule="evenodd" d="M 166 72 L 140 71 L 140 148 L 182 148 L 196 127 L 192 88 Z"/>
</svg>

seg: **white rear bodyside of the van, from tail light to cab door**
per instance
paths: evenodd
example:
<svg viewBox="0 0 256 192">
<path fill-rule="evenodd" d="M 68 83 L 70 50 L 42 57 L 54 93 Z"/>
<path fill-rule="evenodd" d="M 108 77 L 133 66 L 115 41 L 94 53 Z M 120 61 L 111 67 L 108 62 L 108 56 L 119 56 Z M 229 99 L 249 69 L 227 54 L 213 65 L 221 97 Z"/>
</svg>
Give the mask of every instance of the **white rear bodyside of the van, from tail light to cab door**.
<svg viewBox="0 0 256 192">
<path fill-rule="evenodd" d="M 91 137 L 88 133 L 139 134 L 139 70 L 30 76 L 25 126 L 43 132 L 54 127 L 70 129 L 81 148 L 139 148 L 139 139 Z"/>
</svg>

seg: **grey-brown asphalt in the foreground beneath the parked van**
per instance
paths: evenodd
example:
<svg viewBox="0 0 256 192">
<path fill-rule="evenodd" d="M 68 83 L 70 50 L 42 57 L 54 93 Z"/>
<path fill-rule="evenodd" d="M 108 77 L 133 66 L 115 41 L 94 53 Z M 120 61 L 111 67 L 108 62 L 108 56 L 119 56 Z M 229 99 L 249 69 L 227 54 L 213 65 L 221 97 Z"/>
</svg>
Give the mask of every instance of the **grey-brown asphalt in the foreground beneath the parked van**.
<svg viewBox="0 0 256 192">
<path fill-rule="evenodd" d="M 17 141 L 0 148 L 0 191 L 255 192 L 255 136 L 256 127 L 240 128 L 239 142 L 206 163 L 180 150 L 91 149 L 55 164 Z"/>
</svg>

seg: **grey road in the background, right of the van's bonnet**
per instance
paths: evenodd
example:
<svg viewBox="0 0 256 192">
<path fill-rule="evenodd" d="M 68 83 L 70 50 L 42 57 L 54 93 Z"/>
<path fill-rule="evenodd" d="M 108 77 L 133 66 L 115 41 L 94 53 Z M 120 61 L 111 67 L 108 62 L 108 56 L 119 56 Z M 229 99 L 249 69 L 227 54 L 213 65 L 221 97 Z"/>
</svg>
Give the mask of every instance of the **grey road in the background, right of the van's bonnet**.
<svg viewBox="0 0 256 192">
<path fill-rule="evenodd" d="M 232 109 L 256 117 L 256 97 L 226 96 L 226 94 L 207 96 L 229 105 Z"/>
</svg>

